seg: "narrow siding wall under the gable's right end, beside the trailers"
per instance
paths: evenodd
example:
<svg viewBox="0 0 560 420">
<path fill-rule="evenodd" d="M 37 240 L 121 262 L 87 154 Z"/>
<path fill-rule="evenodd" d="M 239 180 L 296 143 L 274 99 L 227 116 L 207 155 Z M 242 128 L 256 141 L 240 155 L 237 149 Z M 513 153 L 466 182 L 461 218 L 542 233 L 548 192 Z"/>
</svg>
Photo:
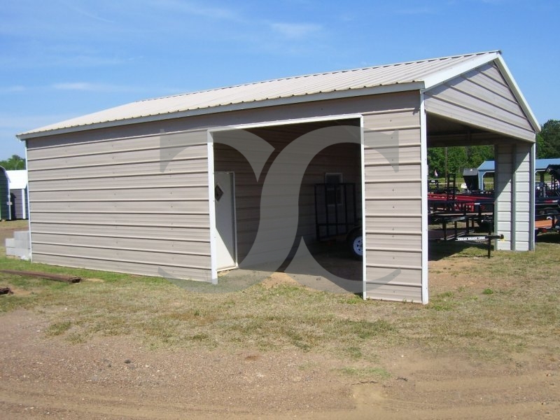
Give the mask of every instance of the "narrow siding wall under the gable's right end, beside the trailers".
<svg viewBox="0 0 560 420">
<path fill-rule="evenodd" d="M 531 144 L 496 146 L 496 232 L 504 235 L 504 240 L 498 241 L 498 249 L 533 249 L 531 150 Z"/>
</svg>

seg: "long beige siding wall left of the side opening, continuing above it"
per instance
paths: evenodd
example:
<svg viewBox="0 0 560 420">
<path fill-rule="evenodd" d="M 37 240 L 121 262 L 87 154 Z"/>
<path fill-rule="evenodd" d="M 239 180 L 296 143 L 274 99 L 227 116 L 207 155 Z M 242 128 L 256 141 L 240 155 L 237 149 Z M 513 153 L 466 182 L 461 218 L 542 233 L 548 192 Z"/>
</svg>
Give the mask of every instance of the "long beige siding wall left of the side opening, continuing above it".
<svg viewBox="0 0 560 420">
<path fill-rule="evenodd" d="M 337 99 L 321 102 L 320 106 L 306 103 L 267 107 L 29 139 L 34 260 L 209 281 L 207 130 L 294 118 L 356 115 L 363 110 L 382 112 L 386 106 L 398 106 L 406 97 L 386 94 Z M 290 126 L 293 125 L 282 127 L 289 132 Z M 176 134 L 160 135 L 164 131 Z M 196 145 L 183 151 L 192 139 Z M 342 152 L 335 155 L 344 156 L 339 153 Z M 164 172 L 160 159 L 171 161 Z M 348 165 L 346 159 L 342 163 Z M 359 172 L 359 166 L 351 167 Z M 343 172 L 345 181 L 353 181 L 347 175 L 350 169 L 338 171 L 332 165 L 328 168 L 329 172 Z M 239 185 L 251 179 L 254 180 L 252 172 L 250 176 L 241 173 L 236 182 Z M 317 180 L 316 177 L 309 182 Z M 355 181 L 359 183 L 359 179 Z M 255 204 L 258 198 L 251 188 L 244 198 L 248 209 L 237 229 L 239 240 L 252 244 L 259 217 Z M 308 227 L 309 214 L 307 210 L 307 222 L 303 223 Z M 107 239 L 102 245 L 105 248 L 99 245 L 99 236 Z M 196 246 L 197 255 L 191 255 L 193 243 L 200 244 Z M 122 252 L 113 252 L 113 248 L 121 246 Z"/>
</svg>

